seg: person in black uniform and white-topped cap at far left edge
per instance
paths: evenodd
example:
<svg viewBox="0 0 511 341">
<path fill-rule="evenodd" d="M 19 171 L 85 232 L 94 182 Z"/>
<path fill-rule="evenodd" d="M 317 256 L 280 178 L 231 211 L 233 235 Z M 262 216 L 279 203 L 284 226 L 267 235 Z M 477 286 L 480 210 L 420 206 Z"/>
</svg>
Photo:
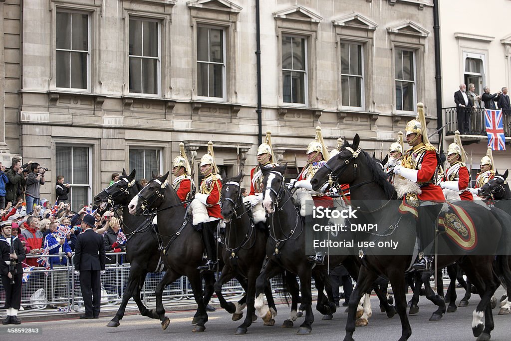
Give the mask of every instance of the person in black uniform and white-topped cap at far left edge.
<svg viewBox="0 0 511 341">
<path fill-rule="evenodd" d="M 11 235 L 12 220 L 0 222 L 2 236 L 0 236 L 0 273 L 2 284 L 5 289 L 5 308 L 7 318 L 2 322 L 4 325 L 19 325 L 18 310 L 21 304 L 21 280 L 23 268 L 21 262 L 25 260 L 23 244 L 18 237 Z"/>
</svg>

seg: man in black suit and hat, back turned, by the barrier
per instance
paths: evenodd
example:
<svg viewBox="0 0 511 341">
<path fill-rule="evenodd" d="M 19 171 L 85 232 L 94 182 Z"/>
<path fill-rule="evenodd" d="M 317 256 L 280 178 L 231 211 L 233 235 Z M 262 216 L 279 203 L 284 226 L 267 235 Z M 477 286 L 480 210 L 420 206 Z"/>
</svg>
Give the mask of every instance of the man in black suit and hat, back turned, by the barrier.
<svg viewBox="0 0 511 341">
<path fill-rule="evenodd" d="M 75 274 L 80 275 L 85 314 L 80 319 L 98 319 L 101 304 L 100 274 L 105 273 L 105 244 L 103 237 L 92 228 L 96 218 L 86 214 L 82 219 L 84 230 L 76 240 Z"/>
</svg>

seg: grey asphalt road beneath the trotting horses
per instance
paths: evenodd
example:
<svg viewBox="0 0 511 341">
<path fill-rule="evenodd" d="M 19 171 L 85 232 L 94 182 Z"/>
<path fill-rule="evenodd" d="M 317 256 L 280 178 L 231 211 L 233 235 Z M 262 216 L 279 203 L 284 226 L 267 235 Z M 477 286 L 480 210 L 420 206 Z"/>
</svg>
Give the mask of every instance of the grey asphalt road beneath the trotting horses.
<svg viewBox="0 0 511 341">
<path fill-rule="evenodd" d="M 503 293 L 502 288 L 497 291 L 497 298 Z M 461 291 L 458 289 L 458 301 Z M 409 299 L 410 295 L 407 295 Z M 412 327 L 410 340 L 449 340 L 449 341 L 467 341 L 475 340 L 472 335 L 472 311 L 476 306 L 476 297 L 472 296 L 468 307 L 458 308 L 457 312 L 446 313 L 442 321 L 428 321 L 435 307 L 425 298 L 421 298 L 419 303 L 420 311 L 418 314 L 409 316 Z M 397 340 L 401 336 L 401 324 L 399 316 L 396 314 L 392 319 L 388 319 L 378 308 L 376 297 L 371 298 L 373 316 L 369 319 L 367 327 L 359 327 L 355 331 L 356 340 Z M 110 317 L 102 317 L 98 320 L 61 320 L 49 322 L 26 322 L 19 326 L 22 328 L 39 328 L 39 334 L 23 333 L 12 334 L 7 330 L 8 326 L 0 325 L 0 340 L 159 340 L 159 339 L 178 339 L 178 340 L 226 340 L 234 338 L 243 339 L 320 339 L 320 340 L 339 340 L 344 337 L 344 327 L 347 313 L 344 308 L 334 314 L 331 321 L 321 321 L 321 315 L 315 312 L 315 322 L 313 324 L 312 334 L 310 336 L 297 336 L 298 325 L 303 322 L 303 318 L 297 320 L 295 327 L 291 329 L 281 328 L 282 322 L 287 318 L 289 309 L 286 305 L 278 305 L 278 315 L 276 316 L 275 326 L 263 326 L 260 319 L 255 321 L 245 336 L 235 336 L 237 326 L 240 321 L 232 321 L 229 315 L 223 309 L 217 309 L 209 313 L 209 321 L 206 324 L 206 331 L 203 333 L 192 333 L 193 311 L 173 311 L 168 312 L 167 316 L 171 323 L 167 330 L 161 330 L 159 321 L 148 319 L 147 317 L 131 314 L 126 315 L 121 321 L 121 326 L 117 328 L 106 327 Z M 492 340 L 508 341 L 509 325 L 511 315 L 496 315 L 499 308 L 494 309 L 495 329 L 492 332 Z"/>
</svg>

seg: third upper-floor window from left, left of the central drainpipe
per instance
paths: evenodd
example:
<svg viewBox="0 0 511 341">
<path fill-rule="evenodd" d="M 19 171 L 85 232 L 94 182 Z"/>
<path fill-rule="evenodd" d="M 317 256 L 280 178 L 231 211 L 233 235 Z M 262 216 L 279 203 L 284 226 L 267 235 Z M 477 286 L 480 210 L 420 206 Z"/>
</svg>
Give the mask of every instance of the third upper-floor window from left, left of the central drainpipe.
<svg viewBox="0 0 511 341">
<path fill-rule="evenodd" d="M 197 27 L 197 95 L 225 97 L 225 31 Z"/>
</svg>

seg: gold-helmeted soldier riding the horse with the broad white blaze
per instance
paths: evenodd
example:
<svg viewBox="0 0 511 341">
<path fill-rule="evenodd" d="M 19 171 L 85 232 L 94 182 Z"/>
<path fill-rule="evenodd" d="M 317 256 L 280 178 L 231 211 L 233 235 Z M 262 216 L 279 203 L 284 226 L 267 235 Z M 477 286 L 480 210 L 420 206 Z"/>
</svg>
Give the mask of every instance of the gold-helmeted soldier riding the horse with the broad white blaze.
<svg viewBox="0 0 511 341">
<path fill-rule="evenodd" d="M 323 142 L 323 136 L 321 134 L 320 127 L 316 127 L 316 138 L 314 141 L 309 143 L 306 153 L 307 164 L 300 172 L 300 174 L 298 174 L 296 180 L 292 179 L 290 181 L 290 187 L 292 186 L 294 188 L 302 188 L 305 190 L 306 194 L 312 196 L 315 207 L 333 207 L 334 205 L 332 198 L 326 194 L 314 192 L 311 185 L 311 179 L 313 178 L 314 174 L 316 174 L 317 170 L 325 165 L 330 158 L 330 153 L 328 152 L 327 147 Z M 309 199 L 310 196 L 308 197 Z M 307 196 L 305 198 L 307 198 Z M 301 213 L 303 214 L 304 212 Z M 316 218 L 316 221 L 313 221 L 312 215 L 307 215 L 305 218 L 306 224 L 310 225 L 311 228 L 313 223 L 318 223 L 320 225 L 328 224 L 328 218 L 321 219 L 321 221 L 319 220 L 320 219 Z M 314 232 L 314 240 L 322 241 L 322 239 L 324 239 L 322 237 L 323 236 L 321 232 Z M 326 249 L 323 247 L 317 247 L 314 249 L 314 252 L 316 255 L 310 256 L 309 261 L 315 262 L 316 264 L 323 264 L 324 256 L 326 255 Z"/>
</svg>

